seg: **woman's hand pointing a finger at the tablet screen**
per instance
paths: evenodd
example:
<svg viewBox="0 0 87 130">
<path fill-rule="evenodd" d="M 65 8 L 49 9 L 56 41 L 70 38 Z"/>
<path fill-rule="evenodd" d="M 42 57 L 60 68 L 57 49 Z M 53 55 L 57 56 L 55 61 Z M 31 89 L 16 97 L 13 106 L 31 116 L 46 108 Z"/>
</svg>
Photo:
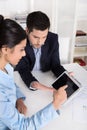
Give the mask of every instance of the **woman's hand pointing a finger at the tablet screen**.
<svg viewBox="0 0 87 130">
<path fill-rule="evenodd" d="M 67 85 L 59 88 L 58 90 L 55 90 L 53 93 L 53 106 L 57 110 L 60 108 L 60 106 L 66 101 L 67 94 L 65 89 L 67 88 Z"/>
</svg>

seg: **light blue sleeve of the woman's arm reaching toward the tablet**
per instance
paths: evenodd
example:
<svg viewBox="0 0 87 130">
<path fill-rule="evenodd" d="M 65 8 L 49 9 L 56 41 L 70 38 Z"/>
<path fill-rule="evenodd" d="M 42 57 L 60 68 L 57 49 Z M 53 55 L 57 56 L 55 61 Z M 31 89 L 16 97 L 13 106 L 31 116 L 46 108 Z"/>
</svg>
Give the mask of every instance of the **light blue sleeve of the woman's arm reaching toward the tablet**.
<svg viewBox="0 0 87 130">
<path fill-rule="evenodd" d="M 2 122 L 14 130 L 38 130 L 49 121 L 58 117 L 52 104 L 37 112 L 32 117 L 25 118 L 20 114 L 11 102 L 0 102 L 0 117 Z"/>
</svg>

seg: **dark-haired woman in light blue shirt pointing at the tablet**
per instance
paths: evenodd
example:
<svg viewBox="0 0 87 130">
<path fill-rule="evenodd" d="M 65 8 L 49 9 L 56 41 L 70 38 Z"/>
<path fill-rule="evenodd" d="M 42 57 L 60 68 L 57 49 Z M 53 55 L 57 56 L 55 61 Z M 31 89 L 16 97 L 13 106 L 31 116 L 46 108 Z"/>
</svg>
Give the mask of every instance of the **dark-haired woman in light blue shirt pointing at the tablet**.
<svg viewBox="0 0 87 130">
<path fill-rule="evenodd" d="M 52 103 L 32 117 L 25 117 L 26 106 L 22 102 L 25 97 L 14 83 L 12 67 L 25 56 L 25 46 L 26 33 L 22 27 L 0 16 L 0 130 L 38 130 L 58 117 L 56 110 L 67 98 L 66 86 L 61 87 L 54 92 Z"/>
</svg>

